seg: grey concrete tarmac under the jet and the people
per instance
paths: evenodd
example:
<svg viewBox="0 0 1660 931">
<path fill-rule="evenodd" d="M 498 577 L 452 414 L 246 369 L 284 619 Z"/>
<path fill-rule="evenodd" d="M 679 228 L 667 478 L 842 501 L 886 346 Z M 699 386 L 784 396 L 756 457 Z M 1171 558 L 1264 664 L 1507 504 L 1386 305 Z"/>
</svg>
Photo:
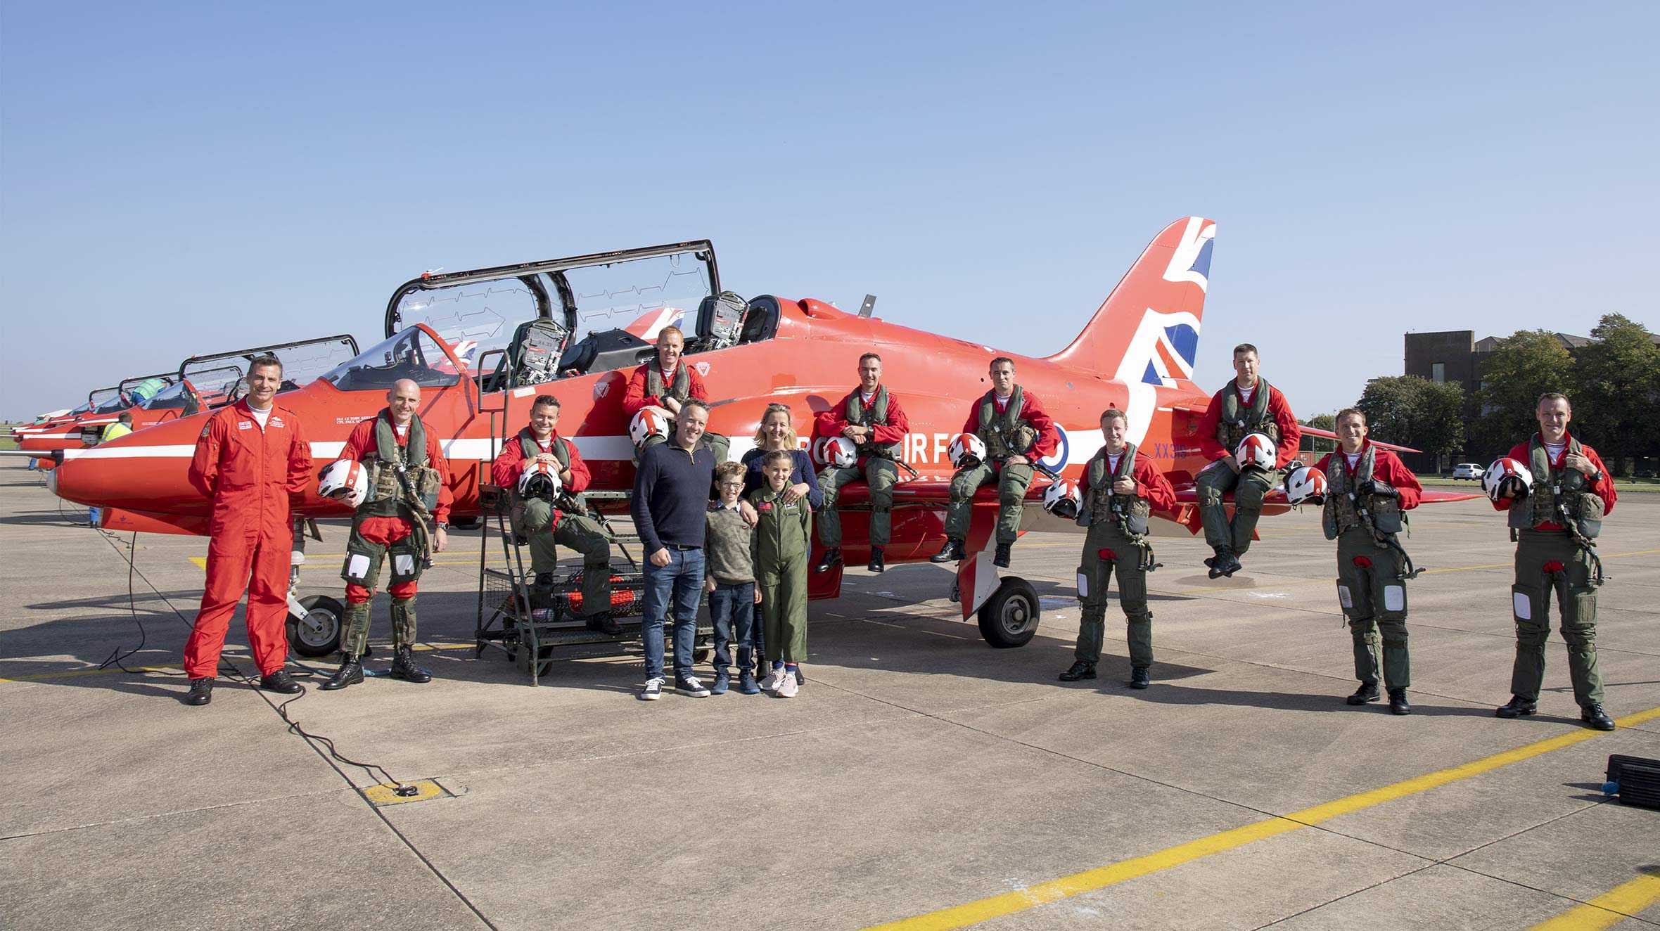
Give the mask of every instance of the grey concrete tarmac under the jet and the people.
<svg viewBox="0 0 1660 931">
<path fill-rule="evenodd" d="M 1014 549 L 1044 602 L 1026 647 L 961 622 L 945 569 L 852 569 L 812 606 L 800 697 L 644 704 L 634 654 L 561 656 L 540 689 L 475 659 L 480 534 L 456 533 L 422 582 L 437 680 L 287 709 L 443 790 L 390 807 L 276 695 L 221 677 L 179 704 L 206 539 L 139 536 L 129 606 L 131 538 L 76 519 L 0 463 L 3 928 L 1660 926 L 1660 812 L 1599 792 L 1609 753 L 1660 757 L 1660 495 L 1604 524 L 1614 734 L 1577 724 L 1555 634 L 1539 715 L 1492 717 L 1514 549 L 1486 501 L 1413 516 L 1411 717 L 1343 702 L 1315 511 L 1265 519 L 1227 581 L 1202 541 L 1159 539 L 1145 692 L 1116 601 L 1101 679 L 1056 680 L 1081 536 Z M 325 528 L 304 594 L 339 597 L 342 549 Z M 138 622 L 133 672 L 98 670 Z M 241 619 L 226 659 L 252 672 Z"/>
</svg>

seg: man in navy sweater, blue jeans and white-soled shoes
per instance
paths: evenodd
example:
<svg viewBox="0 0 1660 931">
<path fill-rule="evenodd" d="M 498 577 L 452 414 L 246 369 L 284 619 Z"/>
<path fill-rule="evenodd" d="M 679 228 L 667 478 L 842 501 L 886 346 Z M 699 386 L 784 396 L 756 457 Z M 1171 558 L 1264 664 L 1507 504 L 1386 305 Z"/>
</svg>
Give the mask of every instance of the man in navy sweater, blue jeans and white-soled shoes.
<svg viewBox="0 0 1660 931">
<path fill-rule="evenodd" d="M 709 689 L 692 675 L 697 602 L 704 589 L 704 518 L 714 488 L 715 458 L 699 450 L 709 427 L 709 405 L 681 402 L 674 436 L 647 446 L 634 473 L 634 528 L 646 551 L 646 616 L 639 637 L 646 647 L 646 684 L 639 699 L 662 697 L 662 624 L 674 611 L 674 690 L 694 699 Z M 744 514 L 754 524 L 754 509 Z"/>
</svg>

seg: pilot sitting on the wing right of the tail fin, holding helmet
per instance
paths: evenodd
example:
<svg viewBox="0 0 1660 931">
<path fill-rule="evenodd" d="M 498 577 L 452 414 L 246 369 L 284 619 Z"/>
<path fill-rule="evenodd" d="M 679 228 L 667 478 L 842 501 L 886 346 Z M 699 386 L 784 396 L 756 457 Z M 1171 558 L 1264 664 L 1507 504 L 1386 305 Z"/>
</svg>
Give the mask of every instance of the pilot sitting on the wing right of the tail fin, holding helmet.
<svg viewBox="0 0 1660 931">
<path fill-rule="evenodd" d="M 1250 549 L 1257 518 L 1262 516 L 1262 496 L 1278 485 L 1278 470 L 1296 456 L 1296 443 L 1303 428 L 1296 425 L 1285 395 L 1258 373 L 1257 347 L 1233 347 L 1235 377 L 1210 398 L 1205 417 L 1199 420 L 1199 451 L 1208 460 L 1194 485 L 1199 491 L 1199 516 L 1205 524 L 1205 543 L 1215 556 L 1205 559 L 1210 578 L 1232 576 L 1240 569 L 1240 556 Z M 1275 445 L 1275 471 L 1242 468 L 1233 458 L 1240 440 L 1248 433 L 1265 433 Z M 1225 493 L 1233 493 L 1233 519 L 1228 519 L 1222 503 Z"/>
</svg>

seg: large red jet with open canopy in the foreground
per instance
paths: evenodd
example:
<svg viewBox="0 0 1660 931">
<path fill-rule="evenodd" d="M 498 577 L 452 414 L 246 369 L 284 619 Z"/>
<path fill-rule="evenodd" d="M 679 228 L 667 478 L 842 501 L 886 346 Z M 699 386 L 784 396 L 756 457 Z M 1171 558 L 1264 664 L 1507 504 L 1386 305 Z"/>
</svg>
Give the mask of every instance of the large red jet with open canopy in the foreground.
<svg viewBox="0 0 1660 931">
<path fill-rule="evenodd" d="M 885 383 L 911 423 L 901 458 L 918 473 L 895 488 L 890 564 L 923 561 L 940 549 L 953 471 L 946 446 L 988 390 L 988 363 L 996 355 L 1016 360 L 1016 380 L 1061 427 L 1059 450 L 1044 465 L 1077 480 L 1102 443 L 1101 412 L 1119 407 L 1129 413 L 1130 441 L 1175 485 L 1177 523 L 1195 533 L 1194 475 L 1205 465 L 1195 430 L 1210 392 L 1192 382 L 1192 372 L 1213 237 L 1208 219 L 1167 226 L 1071 345 L 1047 357 L 847 314 L 810 297 L 762 295 L 730 315 L 714 299 L 720 279 L 707 241 L 427 274 L 393 294 L 385 342 L 284 395 L 282 403 L 304 422 L 320 470 L 340 453 L 352 425 L 385 405 L 395 380 L 413 378 L 422 385 L 422 420 L 443 438 L 450 460 L 452 513 L 465 516 L 478 513 L 478 483 L 503 438 L 525 425 L 536 395 L 551 393 L 564 410 L 561 435 L 593 471 L 591 488 L 627 490 L 634 466 L 621 402 L 629 373 L 654 350 L 626 327 L 642 314 L 666 319 L 674 309 L 697 307 L 696 327 L 682 327 L 686 362 L 712 398 L 709 428 L 730 436 L 734 458 L 752 446 L 760 415 L 774 402 L 790 405 L 805 441 L 813 415 L 857 383 L 858 355 L 883 353 Z M 103 508 L 111 529 L 206 533 L 209 503 L 184 478 L 199 433 L 198 418 L 188 417 L 70 450 L 53 473 L 55 490 Z M 1033 483 L 1023 529 L 1077 529 L 1042 511 L 1046 485 Z M 1424 495 L 1424 501 L 1462 498 L 1471 495 Z M 863 485 L 842 493 L 842 508 L 847 563 L 865 563 Z M 1267 514 L 1285 509 L 1280 491 L 1263 508 Z M 954 589 L 963 617 L 978 611 L 991 644 L 1019 646 L 1036 632 L 1039 602 L 1031 584 L 1013 576 L 999 581 L 991 566 L 996 511 L 996 490 L 981 490 L 971 556 L 959 564 Z M 312 493 L 300 513 L 345 516 L 347 509 Z M 1174 531 L 1177 524 L 1165 526 Z M 840 584 L 840 568 L 815 573 L 812 597 L 835 597 Z"/>
</svg>

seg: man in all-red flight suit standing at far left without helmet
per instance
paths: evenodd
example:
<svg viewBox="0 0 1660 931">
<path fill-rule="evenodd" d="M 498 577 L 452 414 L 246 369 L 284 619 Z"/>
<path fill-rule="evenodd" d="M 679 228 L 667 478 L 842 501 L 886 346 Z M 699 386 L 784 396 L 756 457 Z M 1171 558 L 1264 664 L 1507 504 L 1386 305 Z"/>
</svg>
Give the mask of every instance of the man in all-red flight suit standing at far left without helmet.
<svg viewBox="0 0 1660 931">
<path fill-rule="evenodd" d="M 282 362 L 262 355 L 247 365 L 247 397 L 208 418 L 196 440 L 189 480 L 212 498 L 208 586 L 184 644 L 189 705 L 212 700 L 219 649 L 236 602 L 247 591 L 247 641 L 259 664 L 259 687 L 300 692 L 282 664 L 289 654 L 287 589 L 294 528 L 289 503 L 305 493 L 310 446 L 299 417 L 277 407 Z"/>
</svg>

